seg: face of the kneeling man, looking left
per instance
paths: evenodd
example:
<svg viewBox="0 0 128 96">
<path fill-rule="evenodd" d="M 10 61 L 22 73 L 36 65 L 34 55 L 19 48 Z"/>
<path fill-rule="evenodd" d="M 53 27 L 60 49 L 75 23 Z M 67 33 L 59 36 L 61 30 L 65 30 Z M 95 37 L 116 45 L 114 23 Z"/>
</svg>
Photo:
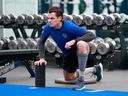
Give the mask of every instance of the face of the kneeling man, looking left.
<svg viewBox="0 0 128 96">
<path fill-rule="evenodd" d="M 48 23 L 51 27 L 58 28 L 61 23 L 61 18 L 56 16 L 56 13 L 48 13 Z"/>
</svg>

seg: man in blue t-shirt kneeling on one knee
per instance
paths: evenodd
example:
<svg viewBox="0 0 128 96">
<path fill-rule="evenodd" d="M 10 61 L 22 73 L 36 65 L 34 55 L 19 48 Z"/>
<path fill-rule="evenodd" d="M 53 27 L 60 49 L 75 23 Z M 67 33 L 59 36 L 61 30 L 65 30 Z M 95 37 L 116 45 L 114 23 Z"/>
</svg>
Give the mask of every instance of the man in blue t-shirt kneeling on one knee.
<svg viewBox="0 0 128 96">
<path fill-rule="evenodd" d="M 97 81 L 102 79 L 102 64 L 90 68 L 85 72 L 90 47 L 88 42 L 95 39 L 92 32 L 75 25 L 72 22 L 63 20 L 63 12 L 58 7 L 48 10 L 48 24 L 44 27 L 38 43 L 40 59 L 35 65 L 47 64 L 44 57 L 44 43 L 51 36 L 61 49 L 64 57 L 63 75 L 66 81 L 77 79 L 75 90 L 85 88 L 84 75 L 92 72 L 97 76 Z M 76 71 L 79 68 L 79 74 Z"/>
</svg>

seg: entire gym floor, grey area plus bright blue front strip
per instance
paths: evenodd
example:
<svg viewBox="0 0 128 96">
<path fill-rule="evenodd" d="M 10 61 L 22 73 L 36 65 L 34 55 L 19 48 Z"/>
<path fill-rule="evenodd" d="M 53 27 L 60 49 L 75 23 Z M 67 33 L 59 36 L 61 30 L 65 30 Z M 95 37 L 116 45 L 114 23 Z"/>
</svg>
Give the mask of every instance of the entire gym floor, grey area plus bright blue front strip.
<svg viewBox="0 0 128 96">
<path fill-rule="evenodd" d="M 0 84 L 0 96 L 128 96 L 128 70 L 104 69 L 100 82 L 87 84 L 82 91 L 73 91 L 71 84 L 56 84 L 62 77 L 62 69 L 56 65 L 46 66 L 46 87 L 36 88 L 35 78 L 30 78 L 24 66 L 20 66 L 2 77 L 7 82 Z"/>
</svg>

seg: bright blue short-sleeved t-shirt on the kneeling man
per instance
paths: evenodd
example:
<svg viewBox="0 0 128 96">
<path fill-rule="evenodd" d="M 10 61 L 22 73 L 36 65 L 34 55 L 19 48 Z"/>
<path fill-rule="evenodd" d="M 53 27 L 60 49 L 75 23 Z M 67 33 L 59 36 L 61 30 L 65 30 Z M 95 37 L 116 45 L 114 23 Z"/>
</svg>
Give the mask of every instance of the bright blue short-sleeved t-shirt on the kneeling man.
<svg viewBox="0 0 128 96">
<path fill-rule="evenodd" d="M 46 40 L 51 36 L 57 46 L 61 49 L 63 55 L 67 56 L 71 49 L 65 49 L 66 42 L 83 36 L 85 32 L 86 29 L 79 27 L 70 21 L 64 20 L 60 29 L 52 28 L 49 24 L 45 25 L 41 38 Z"/>
</svg>

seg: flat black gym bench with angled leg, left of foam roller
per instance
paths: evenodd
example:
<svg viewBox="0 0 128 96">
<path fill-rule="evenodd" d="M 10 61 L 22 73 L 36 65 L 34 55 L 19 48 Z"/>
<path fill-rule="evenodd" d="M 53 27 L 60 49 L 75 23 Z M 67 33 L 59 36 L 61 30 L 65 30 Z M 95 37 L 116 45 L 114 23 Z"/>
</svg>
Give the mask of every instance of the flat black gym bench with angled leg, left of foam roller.
<svg viewBox="0 0 128 96">
<path fill-rule="evenodd" d="M 0 50 L 0 75 L 3 75 L 21 64 L 24 64 L 31 77 L 34 77 L 33 69 L 29 60 L 35 60 L 38 55 L 37 49 L 13 49 L 13 50 Z"/>
</svg>

